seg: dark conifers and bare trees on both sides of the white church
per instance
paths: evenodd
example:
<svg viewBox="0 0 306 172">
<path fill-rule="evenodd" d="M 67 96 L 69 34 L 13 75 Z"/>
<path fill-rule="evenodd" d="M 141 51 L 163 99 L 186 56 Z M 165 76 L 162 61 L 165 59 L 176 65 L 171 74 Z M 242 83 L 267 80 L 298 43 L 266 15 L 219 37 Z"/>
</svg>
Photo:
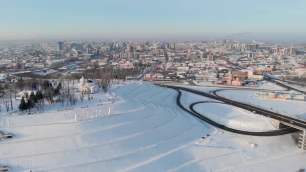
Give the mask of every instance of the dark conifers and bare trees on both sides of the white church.
<svg viewBox="0 0 306 172">
<path fill-rule="evenodd" d="M 127 75 L 132 75 L 134 73 L 136 74 L 138 72 L 139 69 L 120 69 L 113 66 L 105 66 L 104 68 L 100 68 L 98 70 L 88 69 L 84 73 L 87 78 L 92 78 L 99 88 L 102 88 L 104 92 L 107 92 L 107 90 L 111 88 L 113 84 L 119 84 L 119 80 L 123 80 L 124 83 Z M 24 80 L 20 78 L 18 82 L 7 82 L 0 85 L 0 90 L 3 90 L 3 92 L 6 93 L 2 97 L 2 103 L 5 105 L 7 111 L 10 109 L 13 110 L 12 99 L 14 98 L 14 94 L 16 99 L 18 90 L 32 90 L 34 95 L 32 95 L 31 92 L 30 95 L 25 95 L 25 97 L 21 99 L 19 105 L 20 110 L 31 110 L 34 107 L 36 107 L 38 110 L 43 110 L 44 101 L 47 101 L 49 104 L 53 105 L 56 102 L 60 102 L 60 106 L 64 106 L 65 102 L 66 106 L 75 105 L 78 98 L 75 96 L 73 89 L 74 80 L 70 79 L 71 78 L 60 79 L 61 81 L 59 81 L 57 87 L 55 88 L 48 80 L 43 79 Z M 35 94 L 34 91 L 37 90 L 39 91 L 37 94 Z M 85 95 L 86 93 L 81 93 L 81 101 L 84 100 Z M 90 100 L 90 94 L 88 94 L 88 99 Z"/>
</svg>

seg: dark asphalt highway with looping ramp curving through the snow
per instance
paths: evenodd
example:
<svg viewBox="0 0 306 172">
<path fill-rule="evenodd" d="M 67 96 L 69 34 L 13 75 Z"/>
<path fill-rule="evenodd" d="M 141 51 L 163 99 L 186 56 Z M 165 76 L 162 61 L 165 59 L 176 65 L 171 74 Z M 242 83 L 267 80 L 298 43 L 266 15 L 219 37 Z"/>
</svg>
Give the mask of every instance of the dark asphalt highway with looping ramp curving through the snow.
<svg viewBox="0 0 306 172">
<path fill-rule="evenodd" d="M 189 83 L 191 83 L 191 82 L 189 82 Z M 299 130 L 305 130 L 306 129 L 306 120 L 302 120 L 302 119 L 299 119 L 299 118 L 296 118 L 296 117 L 293 117 L 293 116 L 289 116 L 289 115 L 278 114 L 276 112 L 268 111 L 266 109 L 262 109 L 262 108 L 259 108 L 259 107 L 256 107 L 256 106 L 252 106 L 252 105 L 249 105 L 249 104 L 245 104 L 245 103 L 233 101 L 233 100 L 230 100 L 230 99 L 226 99 L 226 98 L 218 96 L 216 94 L 220 90 L 214 90 L 214 91 L 211 91 L 210 93 L 205 93 L 205 92 L 196 91 L 196 90 L 190 89 L 190 88 L 179 87 L 178 84 L 163 84 L 161 82 L 155 83 L 155 84 L 159 85 L 160 87 L 165 87 L 165 88 L 176 90 L 179 93 L 178 97 L 177 97 L 177 100 L 176 100 L 177 105 L 181 109 L 183 109 L 184 111 L 190 113 L 191 115 L 203 120 L 204 122 L 209 123 L 209 124 L 211 124 L 211 125 L 213 125 L 217 128 L 223 129 L 225 131 L 230 131 L 230 132 L 234 132 L 234 133 L 238 133 L 238 134 L 244 134 L 244 135 L 253 135 L 253 136 L 276 136 L 276 135 L 283 135 L 283 134 L 296 132 L 296 131 L 298 131 L 297 129 L 299 129 Z M 276 82 L 276 84 L 278 84 L 278 82 Z M 191 85 L 194 85 L 194 84 L 191 84 Z M 279 85 L 283 86 L 283 84 L 281 84 L 281 83 L 279 83 Z M 294 88 L 288 87 L 287 85 L 286 85 L 285 88 L 287 90 L 296 90 Z M 250 89 L 239 89 L 239 90 L 250 90 Z M 252 89 L 252 90 L 263 91 L 263 90 L 258 90 L 258 89 Z M 200 113 L 196 112 L 193 109 L 193 106 L 196 105 L 196 104 L 209 103 L 209 102 L 195 102 L 195 103 L 193 103 L 189 106 L 190 110 L 186 109 L 181 104 L 181 101 L 180 101 L 181 95 L 182 95 L 181 91 L 186 91 L 186 92 L 193 93 L 193 94 L 196 94 L 196 95 L 200 95 L 200 96 L 203 96 L 203 97 L 211 98 L 211 99 L 214 99 L 214 100 L 217 100 L 217 101 L 221 101 L 221 102 L 223 102 L 224 104 L 227 104 L 227 105 L 239 107 L 239 108 L 245 109 L 247 111 L 251 111 L 253 113 L 257 113 L 259 115 L 263 115 L 263 116 L 266 116 L 268 118 L 278 120 L 282 124 L 284 124 L 285 126 L 281 129 L 271 130 L 271 131 L 263 131 L 263 132 L 243 131 L 243 130 L 237 130 L 237 129 L 234 129 L 234 128 L 226 127 L 222 124 L 219 124 L 219 123 L 201 115 Z M 288 127 L 288 126 L 290 126 L 290 127 Z"/>
</svg>

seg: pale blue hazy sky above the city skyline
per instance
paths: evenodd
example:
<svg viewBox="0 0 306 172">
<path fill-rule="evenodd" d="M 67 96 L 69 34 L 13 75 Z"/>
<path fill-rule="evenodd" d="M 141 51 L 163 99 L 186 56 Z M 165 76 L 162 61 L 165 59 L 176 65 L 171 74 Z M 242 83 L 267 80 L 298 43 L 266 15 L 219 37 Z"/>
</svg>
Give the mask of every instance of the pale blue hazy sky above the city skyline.
<svg viewBox="0 0 306 172">
<path fill-rule="evenodd" d="M 304 0 L 1 0 L 0 40 L 305 36 L 305 9 Z"/>
</svg>

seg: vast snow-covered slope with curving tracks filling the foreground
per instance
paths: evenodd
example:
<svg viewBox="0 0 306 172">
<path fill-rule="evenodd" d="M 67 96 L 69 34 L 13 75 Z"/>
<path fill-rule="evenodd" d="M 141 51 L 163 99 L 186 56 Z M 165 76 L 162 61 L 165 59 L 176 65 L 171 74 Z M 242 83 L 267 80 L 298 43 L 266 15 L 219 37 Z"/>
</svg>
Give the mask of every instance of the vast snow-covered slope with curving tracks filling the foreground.
<svg viewBox="0 0 306 172">
<path fill-rule="evenodd" d="M 181 110 L 176 105 L 176 91 L 150 83 L 134 82 L 111 89 L 108 94 L 117 100 L 88 108 L 76 106 L 65 113 L 50 110 L 0 117 L 0 131 L 14 133 L 14 138 L 0 141 L 0 165 L 10 165 L 11 171 L 306 168 L 306 152 L 297 148 L 297 133 L 256 137 L 222 131 Z M 102 103 L 108 102 L 103 96 L 108 97 L 101 94 Z M 182 101 L 206 99 L 191 96 L 183 95 Z M 208 109 L 207 113 L 214 112 Z"/>
</svg>

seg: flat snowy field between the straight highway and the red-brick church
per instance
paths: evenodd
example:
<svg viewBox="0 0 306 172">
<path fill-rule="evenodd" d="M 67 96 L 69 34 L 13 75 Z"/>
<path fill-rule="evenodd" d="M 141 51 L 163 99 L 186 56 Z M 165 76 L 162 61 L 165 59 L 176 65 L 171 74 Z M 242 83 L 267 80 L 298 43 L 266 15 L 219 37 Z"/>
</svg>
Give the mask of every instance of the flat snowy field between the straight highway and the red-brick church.
<svg viewBox="0 0 306 172">
<path fill-rule="evenodd" d="M 233 99 L 235 101 L 249 103 L 255 106 L 266 108 L 270 111 L 275 111 L 283 114 L 290 114 L 302 119 L 306 119 L 306 102 L 304 101 L 291 101 L 279 99 L 260 99 L 255 94 L 259 91 L 248 90 L 222 90 L 216 92 L 217 95 Z M 272 109 L 271 109 L 272 108 Z"/>
</svg>

